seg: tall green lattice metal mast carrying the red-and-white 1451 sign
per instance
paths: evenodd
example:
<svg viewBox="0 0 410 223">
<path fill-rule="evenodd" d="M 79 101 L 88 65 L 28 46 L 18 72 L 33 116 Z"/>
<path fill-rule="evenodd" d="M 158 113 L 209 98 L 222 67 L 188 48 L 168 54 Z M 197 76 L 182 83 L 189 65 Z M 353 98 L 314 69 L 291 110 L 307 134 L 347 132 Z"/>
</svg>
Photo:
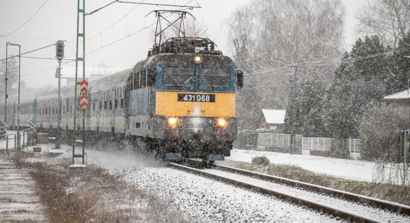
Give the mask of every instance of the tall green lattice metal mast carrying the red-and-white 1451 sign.
<svg viewBox="0 0 410 223">
<path fill-rule="evenodd" d="M 80 8 L 80 1 L 82 1 L 82 8 Z M 82 30 L 80 30 L 80 16 L 82 16 Z M 82 42 L 82 51 L 79 46 L 79 42 Z M 79 53 L 81 56 L 79 56 Z M 79 67 L 79 62 L 82 62 Z M 82 129 L 80 126 L 76 126 L 77 121 L 77 111 L 80 109 L 78 98 L 79 93 L 77 92 L 77 85 L 80 85 L 78 81 L 78 71 L 82 68 L 82 79 L 85 79 L 85 0 L 78 0 L 77 7 L 77 52 L 76 52 L 76 82 L 74 85 L 74 123 L 73 123 L 73 162 L 74 158 L 82 158 L 82 165 L 84 165 L 84 147 L 85 147 L 85 131 L 84 131 L 84 115 L 85 110 L 82 109 Z M 82 154 L 76 154 L 76 135 L 77 133 L 82 133 Z"/>
</svg>

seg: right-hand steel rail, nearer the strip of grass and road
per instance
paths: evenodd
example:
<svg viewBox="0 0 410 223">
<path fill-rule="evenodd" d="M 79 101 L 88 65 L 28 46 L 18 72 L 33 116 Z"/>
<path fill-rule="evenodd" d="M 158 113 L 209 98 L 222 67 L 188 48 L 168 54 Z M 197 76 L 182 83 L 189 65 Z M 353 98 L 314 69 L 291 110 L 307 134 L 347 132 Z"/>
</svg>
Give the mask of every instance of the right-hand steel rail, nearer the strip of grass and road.
<svg viewBox="0 0 410 223">
<path fill-rule="evenodd" d="M 376 198 L 371 198 L 371 197 L 354 194 L 354 193 L 350 193 L 346 191 L 336 190 L 336 189 L 332 189 L 332 188 L 328 188 L 324 186 L 319 186 L 315 184 L 305 183 L 305 182 L 301 182 L 297 180 L 291 180 L 291 179 L 287 179 L 287 178 L 283 178 L 279 176 L 273 176 L 273 175 L 268 175 L 264 173 L 259 173 L 259 172 L 254 172 L 254 171 L 249 171 L 249 170 L 244 170 L 244 169 L 239 169 L 239 168 L 234 168 L 234 167 L 227 167 L 227 166 L 222 166 L 222 165 L 214 165 L 214 167 L 219 170 L 230 171 L 230 172 L 234 172 L 234 173 L 238 173 L 238 174 L 242 174 L 246 176 L 255 177 L 258 179 L 262 179 L 262 180 L 286 184 L 286 185 L 293 186 L 293 187 L 300 187 L 300 188 L 304 188 L 310 191 L 315 191 L 318 193 L 323 193 L 323 194 L 327 194 L 330 196 L 338 197 L 340 199 L 346 199 L 346 200 L 350 200 L 350 201 L 354 201 L 354 202 L 358 202 L 362 204 L 368 204 L 375 208 L 388 209 L 393 212 L 397 212 L 400 214 L 405 214 L 405 215 L 410 216 L 410 206 L 407 206 L 407 205 L 402 205 L 402 204 L 384 201 L 384 200 L 380 200 Z"/>
</svg>

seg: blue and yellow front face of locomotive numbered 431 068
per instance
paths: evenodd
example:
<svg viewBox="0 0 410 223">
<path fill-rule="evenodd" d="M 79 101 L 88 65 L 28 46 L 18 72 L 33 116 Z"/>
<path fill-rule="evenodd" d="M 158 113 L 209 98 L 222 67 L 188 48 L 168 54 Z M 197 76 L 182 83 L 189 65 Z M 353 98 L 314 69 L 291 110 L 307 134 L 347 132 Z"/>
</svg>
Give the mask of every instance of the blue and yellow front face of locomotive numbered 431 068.
<svg viewBox="0 0 410 223">
<path fill-rule="evenodd" d="M 158 55 L 160 56 L 160 55 Z M 228 56 L 164 54 L 157 62 L 156 135 L 168 160 L 224 160 L 237 138 L 236 90 L 242 86 Z"/>
</svg>

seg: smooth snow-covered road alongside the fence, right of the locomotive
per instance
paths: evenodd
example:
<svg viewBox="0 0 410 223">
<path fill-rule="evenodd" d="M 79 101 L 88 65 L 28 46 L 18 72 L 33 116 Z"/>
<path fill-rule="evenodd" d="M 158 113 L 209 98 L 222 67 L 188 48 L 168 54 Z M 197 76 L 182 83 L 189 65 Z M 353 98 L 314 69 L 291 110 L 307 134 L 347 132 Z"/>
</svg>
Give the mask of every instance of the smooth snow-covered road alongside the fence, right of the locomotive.
<svg viewBox="0 0 410 223">
<path fill-rule="evenodd" d="M 250 163 L 252 157 L 262 155 L 266 156 L 272 164 L 295 165 L 317 173 L 368 182 L 372 181 L 373 167 L 375 165 L 373 162 L 368 161 L 239 149 L 232 150 L 231 157 L 226 157 L 225 162 L 218 163 L 221 165 L 229 161 Z"/>
</svg>

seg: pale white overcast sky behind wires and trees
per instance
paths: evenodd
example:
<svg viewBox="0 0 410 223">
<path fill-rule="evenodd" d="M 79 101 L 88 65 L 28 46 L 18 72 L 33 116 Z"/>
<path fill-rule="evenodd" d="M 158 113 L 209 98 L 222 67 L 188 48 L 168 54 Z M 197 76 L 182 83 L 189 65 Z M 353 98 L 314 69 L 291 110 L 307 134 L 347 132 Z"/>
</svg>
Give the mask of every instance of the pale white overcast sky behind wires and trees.
<svg viewBox="0 0 410 223">
<path fill-rule="evenodd" d="M 0 0 L 0 35 L 9 34 L 23 24 L 45 0 Z M 86 0 L 85 11 L 90 12 L 112 0 Z M 139 0 L 135 0 L 139 1 Z M 189 0 L 145 0 L 150 3 L 180 4 L 184 5 Z M 230 55 L 227 46 L 227 34 L 224 21 L 229 19 L 231 12 L 238 6 L 247 3 L 247 0 L 197 0 L 202 8 L 195 8 L 193 15 L 198 20 L 204 20 L 208 25 L 208 38 L 217 45 L 225 55 Z M 354 13 L 366 0 L 342 0 L 346 6 L 345 21 L 345 49 L 348 50 L 355 39 L 354 26 L 356 20 Z M 191 1 L 189 5 L 196 5 Z M 154 14 L 144 17 L 148 12 L 161 9 L 158 6 L 138 5 L 128 14 L 127 19 L 120 20 L 135 4 L 114 3 L 107 8 L 86 16 L 86 38 L 96 35 L 86 46 L 86 52 L 94 51 L 101 46 L 107 45 L 114 40 L 143 29 L 156 21 Z M 175 9 L 168 7 L 168 9 Z M 21 44 L 21 52 L 27 52 L 46 45 L 55 43 L 57 40 L 75 42 L 77 25 L 77 0 L 48 0 L 38 13 L 22 28 L 9 37 L 0 38 L 0 59 L 5 58 L 5 45 L 8 41 Z M 117 24 L 112 26 L 116 21 Z M 99 33 L 103 30 L 101 35 Z M 114 29 L 114 32 L 112 31 Z M 128 31 L 127 31 L 128 30 Z M 146 57 L 147 51 L 152 47 L 148 41 L 151 32 L 149 29 L 118 41 L 108 47 L 86 56 L 87 67 L 95 67 L 105 64 L 109 67 L 128 68 L 139 60 Z M 24 39 L 18 37 L 30 37 L 39 39 Z M 47 40 L 40 40 L 47 39 Z M 75 58 L 75 43 L 68 44 L 65 49 L 66 58 Z M 18 48 L 9 46 L 9 55 L 18 54 Z M 55 48 L 50 47 L 25 56 L 54 57 Z M 43 88 L 48 85 L 57 86 L 54 78 L 55 68 L 47 69 L 57 65 L 57 60 L 21 58 L 23 75 L 21 79 L 30 88 Z M 75 66 L 68 63 L 64 66 Z M 41 72 L 36 72 L 43 70 Z M 32 73 L 35 72 L 35 73 Z M 0 80 L 1 81 L 1 80 Z M 63 81 L 64 85 L 64 81 Z"/>
</svg>

